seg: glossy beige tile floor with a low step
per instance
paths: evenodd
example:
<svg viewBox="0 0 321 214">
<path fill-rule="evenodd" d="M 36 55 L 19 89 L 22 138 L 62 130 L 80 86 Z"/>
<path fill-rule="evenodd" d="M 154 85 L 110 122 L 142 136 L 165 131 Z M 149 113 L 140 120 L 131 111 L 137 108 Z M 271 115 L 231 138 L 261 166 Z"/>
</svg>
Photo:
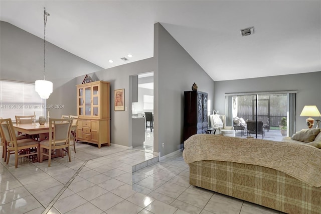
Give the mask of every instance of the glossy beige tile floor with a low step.
<svg viewBox="0 0 321 214">
<path fill-rule="evenodd" d="M 0 213 L 279 213 L 189 184 L 182 153 L 162 161 L 116 145 L 78 143 L 68 158 L 0 162 Z M 1 151 L 2 152 L 2 151 Z"/>
</svg>

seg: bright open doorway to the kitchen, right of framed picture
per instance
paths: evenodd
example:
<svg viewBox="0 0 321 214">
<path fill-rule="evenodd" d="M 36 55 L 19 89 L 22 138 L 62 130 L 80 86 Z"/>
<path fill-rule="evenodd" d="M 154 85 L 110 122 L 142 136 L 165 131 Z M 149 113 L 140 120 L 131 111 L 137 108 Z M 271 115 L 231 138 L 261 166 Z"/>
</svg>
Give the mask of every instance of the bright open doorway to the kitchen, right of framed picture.
<svg viewBox="0 0 321 214">
<path fill-rule="evenodd" d="M 131 111 L 133 117 L 145 118 L 145 113 L 154 111 L 154 73 L 147 72 L 138 74 L 138 97 L 137 102 L 132 102 Z M 153 153 L 154 130 L 150 127 L 150 122 L 144 122 L 144 142 L 143 145 L 133 149 Z"/>
</svg>

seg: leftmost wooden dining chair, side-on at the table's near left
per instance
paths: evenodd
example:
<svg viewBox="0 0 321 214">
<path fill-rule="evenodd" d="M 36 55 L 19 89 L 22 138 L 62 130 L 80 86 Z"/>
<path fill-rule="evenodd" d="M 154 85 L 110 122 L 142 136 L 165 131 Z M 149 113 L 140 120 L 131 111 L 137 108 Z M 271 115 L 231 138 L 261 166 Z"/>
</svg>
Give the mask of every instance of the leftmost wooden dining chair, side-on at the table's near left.
<svg viewBox="0 0 321 214">
<path fill-rule="evenodd" d="M 39 160 L 39 142 L 31 139 L 24 138 L 21 140 L 17 140 L 15 129 L 12 123 L 12 120 L 2 119 L 0 120 L 1 127 L 1 135 L 6 141 L 6 150 L 7 150 L 7 164 L 9 163 L 10 155 L 15 154 L 15 168 L 18 168 L 18 158 L 26 157 L 26 156 L 34 156 L 37 155 Z M 32 148 L 37 148 L 36 150 L 32 150 Z M 23 152 L 25 150 L 25 152 Z M 34 152 L 31 152 L 34 151 Z"/>
</svg>

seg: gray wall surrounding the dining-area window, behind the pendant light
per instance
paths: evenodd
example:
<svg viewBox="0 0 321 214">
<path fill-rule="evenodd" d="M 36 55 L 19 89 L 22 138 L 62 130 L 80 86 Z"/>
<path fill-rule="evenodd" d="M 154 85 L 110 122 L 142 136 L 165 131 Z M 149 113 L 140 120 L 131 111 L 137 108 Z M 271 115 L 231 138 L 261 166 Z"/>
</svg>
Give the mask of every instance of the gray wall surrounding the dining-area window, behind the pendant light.
<svg viewBox="0 0 321 214">
<path fill-rule="evenodd" d="M 102 68 L 46 42 L 46 80 L 53 82 L 47 104 L 64 105 L 64 109 L 50 109 L 50 116 L 76 115 L 75 85 L 79 82 L 75 77 L 98 70 Z M 0 79 L 35 82 L 43 78 L 43 38 L 0 21 Z"/>
</svg>

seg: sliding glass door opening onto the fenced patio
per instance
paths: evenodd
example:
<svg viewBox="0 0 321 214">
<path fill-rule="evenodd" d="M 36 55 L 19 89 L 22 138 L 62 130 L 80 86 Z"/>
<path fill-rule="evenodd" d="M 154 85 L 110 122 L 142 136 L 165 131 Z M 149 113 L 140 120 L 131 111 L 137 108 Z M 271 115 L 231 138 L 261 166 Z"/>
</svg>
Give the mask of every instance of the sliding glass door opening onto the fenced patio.
<svg viewBox="0 0 321 214">
<path fill-rule="evenodd" d="M 260 92 L 225 95 L 226 125 L 239 126 L 244 136 L 282 140 L 295 128 L 295 94 L 289 92 Z M 242 124 L 243 121 L 243 124 Z M 242 137 L 241 135 L 239 137 Z"/>
</svg>

